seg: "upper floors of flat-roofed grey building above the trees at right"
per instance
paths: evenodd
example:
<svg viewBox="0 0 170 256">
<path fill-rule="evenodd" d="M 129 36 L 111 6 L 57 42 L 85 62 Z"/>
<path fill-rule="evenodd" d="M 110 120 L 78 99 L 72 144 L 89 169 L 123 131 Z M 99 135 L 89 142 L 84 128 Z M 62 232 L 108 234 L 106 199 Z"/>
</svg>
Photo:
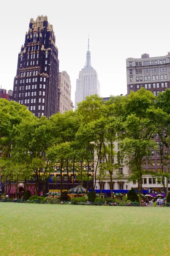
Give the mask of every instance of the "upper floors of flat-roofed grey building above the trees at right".
<svg viewBox="0 0 170 256">
<path fill-rule="evenodd" d="M 153 92 L 155 96 L 170 87 L 170 52 L 161 57 L 127 58 L 127 94 L 141 87 Z"/>
</svg>

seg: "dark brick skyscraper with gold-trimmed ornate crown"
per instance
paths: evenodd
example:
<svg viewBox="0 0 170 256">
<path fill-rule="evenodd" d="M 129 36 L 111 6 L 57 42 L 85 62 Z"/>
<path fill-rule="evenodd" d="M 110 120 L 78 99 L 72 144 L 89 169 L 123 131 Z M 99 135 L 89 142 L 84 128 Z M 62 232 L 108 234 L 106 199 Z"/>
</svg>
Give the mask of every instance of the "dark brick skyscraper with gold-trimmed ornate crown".
<svg viewBox="0 0 170 256">
<path fill-rule="evenodd" d="M 13 100 L 27 106 L 35 116 L 58 112 L 59 60 L 53 26 L 47 16 L 31 18 L 24 46 L 18 55 Z"/>
</svg>

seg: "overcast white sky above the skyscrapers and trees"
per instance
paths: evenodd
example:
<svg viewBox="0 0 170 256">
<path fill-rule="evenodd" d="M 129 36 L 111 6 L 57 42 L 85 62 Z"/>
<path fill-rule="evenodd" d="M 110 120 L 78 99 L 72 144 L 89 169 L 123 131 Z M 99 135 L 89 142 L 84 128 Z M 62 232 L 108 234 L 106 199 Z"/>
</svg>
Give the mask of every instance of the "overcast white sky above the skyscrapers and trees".
<svg viewBox="0 0 170 256">
<path fill-rule="evenodd" d="M 170 1 L 40 0 L 1 1 L 0 85 L 13 90 L 17 57 L 30 18 L 47 15 L 59 50 L 59 71 L 70 75 L 74 102 L 76 79 L 85 65 L 90 34 L 91 64 L 102 97 L 126 94 L 126 58 L 170 51 Z"/>
</svg>

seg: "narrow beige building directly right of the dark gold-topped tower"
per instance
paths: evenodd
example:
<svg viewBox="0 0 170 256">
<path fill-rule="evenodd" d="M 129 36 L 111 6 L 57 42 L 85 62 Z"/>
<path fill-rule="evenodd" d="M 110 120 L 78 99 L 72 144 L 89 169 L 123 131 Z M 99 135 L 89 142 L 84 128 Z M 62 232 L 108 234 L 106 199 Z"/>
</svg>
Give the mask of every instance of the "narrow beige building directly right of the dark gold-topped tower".
<svg viewBox="0 0 170 256">
<path fill-rule="evenodd" d="M 74 105 L 71 101 L 71 81 L 70 76 L 66 71 L 59 72 L 58 76 L 59 88 L 59 112 L 73 110 Z"/>
</svg>

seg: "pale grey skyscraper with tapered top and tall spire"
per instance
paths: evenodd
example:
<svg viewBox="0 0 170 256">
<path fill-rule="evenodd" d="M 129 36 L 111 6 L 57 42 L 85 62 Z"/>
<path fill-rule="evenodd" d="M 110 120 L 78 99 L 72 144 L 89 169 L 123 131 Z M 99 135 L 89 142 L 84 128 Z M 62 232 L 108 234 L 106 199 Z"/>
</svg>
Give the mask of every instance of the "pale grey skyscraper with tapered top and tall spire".
<svg viewBox="0 0 170 256">
<path fill-rule="evenodd" d="M 85 67 L 79 72 L 79 78 L 76 81 L 75 109 L 77 108 L 78 102 L 82 102 L 86 96 L 94 94 L 98 94 L 100 96 L 100 83 L 96 70 L 91 66 L 91 52 L 89 51 L 88 39 L 88 51 L 86 54 Z"/>
</svg>

